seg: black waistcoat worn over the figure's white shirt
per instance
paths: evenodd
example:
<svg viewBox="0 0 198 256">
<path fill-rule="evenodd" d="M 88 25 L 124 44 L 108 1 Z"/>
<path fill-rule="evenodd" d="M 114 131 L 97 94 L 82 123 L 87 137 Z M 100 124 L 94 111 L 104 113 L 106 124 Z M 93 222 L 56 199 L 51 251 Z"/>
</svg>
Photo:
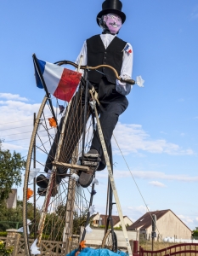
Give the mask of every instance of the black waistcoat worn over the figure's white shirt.
<svg viewBox="0 0 198 256">
<path fill-rule="evenodd" d="M 110 65 L 116 69 L 118 75 L 121 73 L 122 68 L 122 57 L 125 45 L 127 42 L 122 41 L 122 39 L 115 37 L 105 49 L 102 39 L 99 35 L 88 38 L 87 49 L 88 49 L 88 66 L 96 67 L 102 64 Z M 105 75 L 106 79 L 112 83 L 116 84 L 116 75 L 108 67 L 100 67 L 97 70 L 91 70 L 88 72 L 88 79 L 90 82 L 99 83 L 100 79 Z M 102 74 L 104 73 L 104 74 Z"/>
</svg>

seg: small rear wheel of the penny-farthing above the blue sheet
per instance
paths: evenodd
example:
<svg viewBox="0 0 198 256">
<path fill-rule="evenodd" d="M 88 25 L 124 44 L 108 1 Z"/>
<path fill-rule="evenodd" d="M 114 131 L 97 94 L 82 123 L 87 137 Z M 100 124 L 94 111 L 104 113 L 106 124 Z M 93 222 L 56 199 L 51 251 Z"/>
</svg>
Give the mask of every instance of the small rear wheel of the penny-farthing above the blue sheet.
<svg viewBox="0 0 198 256">
<path fill-rule="evenodd" d="M 114 231 L 107 230 L 102 241 L 102 248 L 117 252 L 117 237 Z"/>
</svg>

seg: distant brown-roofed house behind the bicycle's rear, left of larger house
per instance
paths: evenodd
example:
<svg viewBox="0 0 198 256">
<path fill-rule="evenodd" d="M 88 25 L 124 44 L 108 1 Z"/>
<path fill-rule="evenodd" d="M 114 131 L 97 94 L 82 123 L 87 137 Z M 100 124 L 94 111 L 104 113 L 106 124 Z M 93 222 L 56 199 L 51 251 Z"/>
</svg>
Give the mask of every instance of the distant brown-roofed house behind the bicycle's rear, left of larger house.
<svg viewBox="0 0 198 256">
<path fill-rule="evenodd" d="M 108 215 L 99 214 L 98 212 L 97 214 L 93 214 L 91 218 L 92 218 L 92 225 L 94 227 L 99 227 L 103 225 L 105 226 Z M 120 217 L 116 215 L 112 215 L 111 218 L 113 220 L 114 228 L 119 228 L 121 226 Z M 131 224 L 133 224 L 133 221 L 127 216 L 123 216 L 123 218 L 126 226 L 130 226 Z"/>
</svg>

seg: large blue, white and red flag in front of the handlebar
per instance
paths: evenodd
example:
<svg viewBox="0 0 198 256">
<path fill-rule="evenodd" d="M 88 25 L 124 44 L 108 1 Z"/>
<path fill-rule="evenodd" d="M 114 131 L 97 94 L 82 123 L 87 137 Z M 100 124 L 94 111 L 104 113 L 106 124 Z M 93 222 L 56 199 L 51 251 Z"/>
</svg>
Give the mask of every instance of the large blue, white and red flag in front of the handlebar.
<svg viewBox="0 0 198 256">
<path fill-rule="evenodd" d="M 60 67 L 47 61 L 37 59 L 37 64 L 42 73 L 48 92 L 59 100 L 70 102 L 77 85 L 80 83 L 82 73 Z M 35 68 L 37 87 L 43 89 L 42 80 Z"/>
</svg>

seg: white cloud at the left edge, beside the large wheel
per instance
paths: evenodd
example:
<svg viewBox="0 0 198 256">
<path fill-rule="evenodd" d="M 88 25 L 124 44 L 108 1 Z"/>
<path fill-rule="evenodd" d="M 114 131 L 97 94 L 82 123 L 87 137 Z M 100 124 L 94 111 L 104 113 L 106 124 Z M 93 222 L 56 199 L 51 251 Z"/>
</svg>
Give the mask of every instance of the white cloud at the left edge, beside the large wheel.
<svg viewBox="0 0 198 256">
<path fill-rule="evenodd" d="M 39 107 L 40 104 L 0 101 L 0 138 L 4 140 L 3 148 L 26 154 L 33 130 L 33 113 L 37 113 Z"/>
</svg>

